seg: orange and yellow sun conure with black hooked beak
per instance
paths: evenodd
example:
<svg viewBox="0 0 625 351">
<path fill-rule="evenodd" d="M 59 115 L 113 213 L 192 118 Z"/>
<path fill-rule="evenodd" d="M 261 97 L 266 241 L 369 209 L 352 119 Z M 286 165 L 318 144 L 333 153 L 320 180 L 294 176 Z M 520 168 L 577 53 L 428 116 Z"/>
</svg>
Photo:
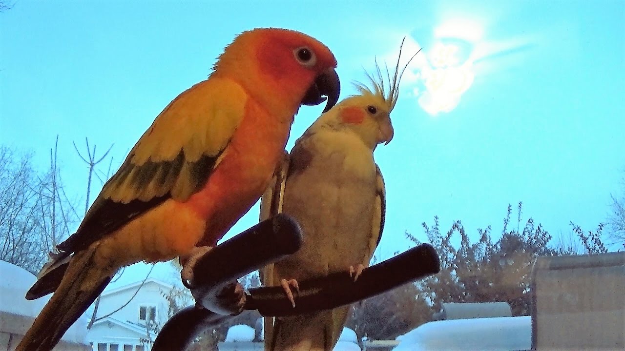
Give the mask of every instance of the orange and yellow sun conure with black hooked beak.
<svg viewBox="0 0 625 351">
<path fill-rule="evenodd" d="M 322 95 L 326 110 L 336 104 L 334 67 L 332 52 L 301 32 L 237 36 L 208 79 L 156 117 L 57 246 L 26 299 L 54 295 L 17 350 L 51 350 L 120 267 L 215 245 L 269 185 L 301 104 L 321 104 Z"/>
</svg>

